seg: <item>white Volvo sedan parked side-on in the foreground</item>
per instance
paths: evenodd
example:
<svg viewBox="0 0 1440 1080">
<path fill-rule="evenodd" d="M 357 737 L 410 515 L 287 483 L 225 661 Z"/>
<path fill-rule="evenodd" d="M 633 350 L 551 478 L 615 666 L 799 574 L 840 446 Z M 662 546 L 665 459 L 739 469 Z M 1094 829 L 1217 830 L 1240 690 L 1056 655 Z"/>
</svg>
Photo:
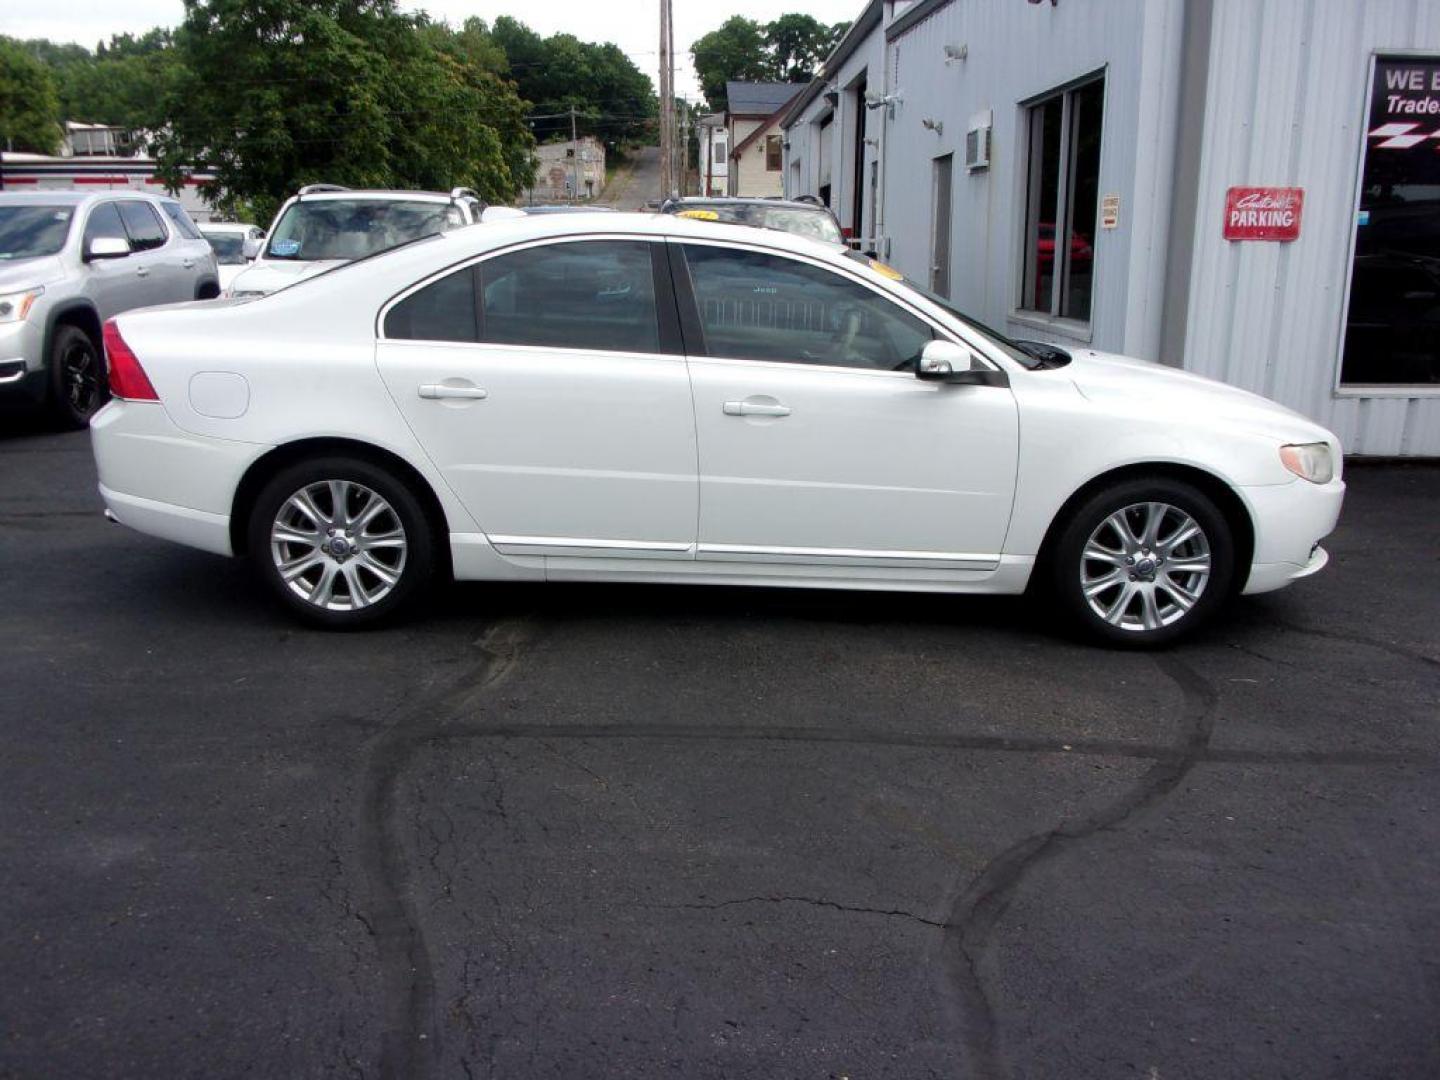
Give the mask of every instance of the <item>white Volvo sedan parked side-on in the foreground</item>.
<svg viewBox="0 0 1440 1080">
<path fill-rule="evenodd" d="M 1014 343 L 880 264 L 668 215 L 419 240 L 124 314 L 112 518 L 249 556 L 325 626 L 433 579 L 1045 586 L 1159 644 L 1319 570 L 1335 436 L 1138 360 Z"/>
</svg>

